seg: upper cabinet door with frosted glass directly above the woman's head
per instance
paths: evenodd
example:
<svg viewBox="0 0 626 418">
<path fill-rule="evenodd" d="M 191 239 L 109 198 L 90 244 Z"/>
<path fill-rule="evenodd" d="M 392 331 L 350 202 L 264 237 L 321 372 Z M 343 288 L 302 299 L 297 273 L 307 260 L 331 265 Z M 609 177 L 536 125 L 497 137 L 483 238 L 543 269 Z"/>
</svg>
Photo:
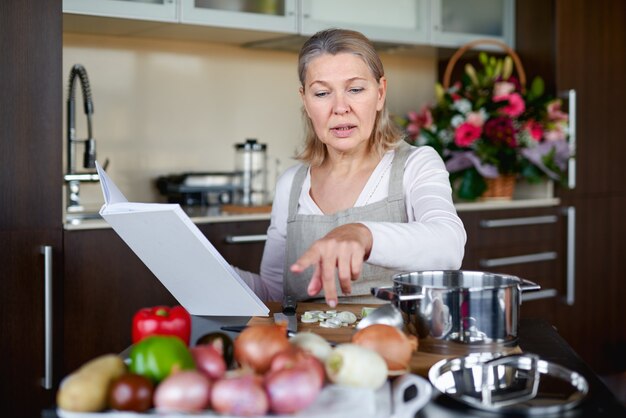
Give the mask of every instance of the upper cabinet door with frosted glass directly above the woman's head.
<svg viewBox="0 0 626 418">
<path fill-rule="evenodd" d="M 424 44 L 428 41 L 424 0 L 302 0 L 301 33 L 329 27 L 362 32 L 372 41 Z"/>
</svg>

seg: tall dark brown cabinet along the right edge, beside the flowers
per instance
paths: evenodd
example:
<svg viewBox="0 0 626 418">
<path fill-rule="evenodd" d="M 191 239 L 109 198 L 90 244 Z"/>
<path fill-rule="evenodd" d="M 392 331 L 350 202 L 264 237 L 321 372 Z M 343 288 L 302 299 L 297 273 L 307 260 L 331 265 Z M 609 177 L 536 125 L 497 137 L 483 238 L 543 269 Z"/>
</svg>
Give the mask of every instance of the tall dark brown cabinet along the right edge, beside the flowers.
<svg viewBox="0 0 626 418">
<path fill-rule="evenodd" d="M 555 93 L 576 91 L 576 187 L 561 190 L 575 210 L 573 305 L 556 307 L 555 325 L 597 372 L 626 370 L 626 2 L 516 2 L 516 49 L 526 72 Z"/>
</svg>

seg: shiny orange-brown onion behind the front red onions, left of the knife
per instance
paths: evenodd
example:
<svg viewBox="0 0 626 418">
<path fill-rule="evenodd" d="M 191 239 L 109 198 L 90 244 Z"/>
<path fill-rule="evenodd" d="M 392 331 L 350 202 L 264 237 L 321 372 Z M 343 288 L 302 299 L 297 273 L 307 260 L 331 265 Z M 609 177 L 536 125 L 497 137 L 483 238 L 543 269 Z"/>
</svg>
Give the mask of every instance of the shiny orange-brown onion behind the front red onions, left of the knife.
<svg viewBox="0 0 626 418">
<path fill-rule="evenodd" d="M 285 325 L 252 325 L 235 340 L 235 360 L 263 374 L 269 370 L 272 357 L 289 346 Z"/>
</svg>

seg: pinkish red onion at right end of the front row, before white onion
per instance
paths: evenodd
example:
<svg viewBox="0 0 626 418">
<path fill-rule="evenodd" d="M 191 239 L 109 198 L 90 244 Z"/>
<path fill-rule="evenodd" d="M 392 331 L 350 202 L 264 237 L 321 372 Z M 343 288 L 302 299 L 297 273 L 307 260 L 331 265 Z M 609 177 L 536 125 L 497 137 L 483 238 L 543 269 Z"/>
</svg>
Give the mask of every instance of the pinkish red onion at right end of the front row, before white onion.
<svg viewBox="0 0 626 418">
<path fill-rule="evenodd" d="M 265 376 L 270 410 L 292 414 L 311 405 L 322 390 L 318 375 L 303 365 L 270 371 Z"/>
</svg>

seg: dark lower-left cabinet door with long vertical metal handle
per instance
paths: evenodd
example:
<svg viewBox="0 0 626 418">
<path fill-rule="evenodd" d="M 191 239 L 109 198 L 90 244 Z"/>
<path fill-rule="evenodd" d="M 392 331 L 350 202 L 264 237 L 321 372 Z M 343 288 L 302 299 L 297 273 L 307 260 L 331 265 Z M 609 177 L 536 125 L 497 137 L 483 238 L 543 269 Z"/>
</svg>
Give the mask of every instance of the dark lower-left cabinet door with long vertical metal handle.
<svg viewBox="0 0 626 418">
<path fill-rule="evenodd" d="M 61 376 L 61 231 L 0 231 L 0 242 L 0 401 L 6 416 L 35 417 Z"/>
</svg>

